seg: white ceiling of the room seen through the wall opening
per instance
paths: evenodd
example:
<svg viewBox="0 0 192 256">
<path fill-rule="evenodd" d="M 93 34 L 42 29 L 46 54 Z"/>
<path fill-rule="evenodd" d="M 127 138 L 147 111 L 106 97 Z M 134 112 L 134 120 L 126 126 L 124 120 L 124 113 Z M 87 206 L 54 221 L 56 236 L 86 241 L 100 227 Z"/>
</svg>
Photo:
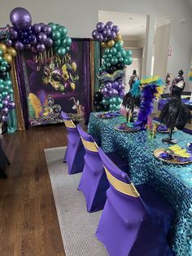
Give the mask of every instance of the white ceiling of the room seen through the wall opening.
<svg viewBox="0 0 192 256">
<path fill-rule="evenodd" d="M 114 24 L 117 24 L 124 39 L 145 38 L 146 15 L 118 11 L 98 11 L 98 20 L 103 23 L 111 20 Z M 155 21 L 156 26 L 167 23 L 170 23 L 168 17 L 159 17 Z"/>
</svg>

